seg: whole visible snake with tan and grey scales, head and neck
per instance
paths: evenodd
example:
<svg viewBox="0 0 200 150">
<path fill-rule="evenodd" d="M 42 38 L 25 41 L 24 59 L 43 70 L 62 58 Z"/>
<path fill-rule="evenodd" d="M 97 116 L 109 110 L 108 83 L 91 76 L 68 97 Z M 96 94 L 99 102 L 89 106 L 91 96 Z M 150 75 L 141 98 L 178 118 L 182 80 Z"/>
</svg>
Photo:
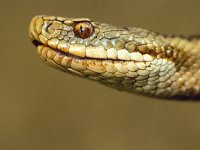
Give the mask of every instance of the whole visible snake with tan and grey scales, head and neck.
<svg viewBox="0 0 200 150">
<path fill-rule="evenodd" d="M 118 27 L 88 18 L 38 15 L 29 36 L 54 68 L 134 94 L 200 98 L 200 38 Z"/>
</svg>

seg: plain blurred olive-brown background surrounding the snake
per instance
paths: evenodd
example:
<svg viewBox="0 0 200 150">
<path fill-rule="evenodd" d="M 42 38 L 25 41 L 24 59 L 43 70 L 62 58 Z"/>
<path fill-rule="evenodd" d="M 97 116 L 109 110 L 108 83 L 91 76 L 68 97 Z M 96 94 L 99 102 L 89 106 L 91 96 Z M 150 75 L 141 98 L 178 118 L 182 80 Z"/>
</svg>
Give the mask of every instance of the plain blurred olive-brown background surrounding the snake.
<svg viewBox="0 0 200 150">
<path fill-rule="evenodd" d="M 160 33 L 200 33 L 198 0 L 1 2 L 1 150 L 199 150 L 200 103 L 119 92 L 43 64 L 34 15 L 89 17 Z"/>
</svg>

